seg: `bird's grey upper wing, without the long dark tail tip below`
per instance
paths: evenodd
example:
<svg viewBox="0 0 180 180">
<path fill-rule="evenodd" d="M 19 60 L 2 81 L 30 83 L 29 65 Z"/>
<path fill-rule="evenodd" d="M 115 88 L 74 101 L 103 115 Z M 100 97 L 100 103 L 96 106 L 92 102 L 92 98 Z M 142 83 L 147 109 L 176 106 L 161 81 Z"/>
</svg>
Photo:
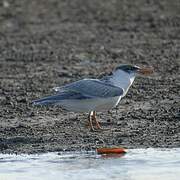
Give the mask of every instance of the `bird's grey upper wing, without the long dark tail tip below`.
<svg viewBox="0 0 180 180">
<path fill-rule="evenodd" d="M 57 92 L 75 91 L 91 97 L 115 97 L 123 95 L 123 89 L 98 79 L 83 79 L 63 87 L 55 88 Z"/>
</svg>

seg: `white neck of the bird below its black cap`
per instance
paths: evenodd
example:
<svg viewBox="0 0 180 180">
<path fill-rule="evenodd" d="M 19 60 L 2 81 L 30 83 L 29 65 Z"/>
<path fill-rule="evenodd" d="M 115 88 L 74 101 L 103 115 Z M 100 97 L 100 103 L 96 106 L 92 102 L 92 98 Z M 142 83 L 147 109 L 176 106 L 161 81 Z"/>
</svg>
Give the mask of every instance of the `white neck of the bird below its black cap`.
<svg viewBox="0 0 180 180">
<path fill-rule="evenodd" d="M 113 75 L 110 78 L 110 81 L 115 86 L 121 87 L 124 89 L 124 96 L 126 95 L 128 89 L 132 85 L 135 79 L 135 74 L 129 74 L 122 70 L 117 70 L 113 72 Z"/>
</svg>

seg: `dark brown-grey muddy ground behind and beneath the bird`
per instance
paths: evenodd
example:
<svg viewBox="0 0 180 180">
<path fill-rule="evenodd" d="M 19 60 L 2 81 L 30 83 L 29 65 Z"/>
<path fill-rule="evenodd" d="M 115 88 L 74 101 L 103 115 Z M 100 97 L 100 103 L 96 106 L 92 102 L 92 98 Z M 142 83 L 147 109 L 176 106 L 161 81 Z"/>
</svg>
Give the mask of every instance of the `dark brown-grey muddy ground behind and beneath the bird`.
<svg viewBox="0 0 180 180">
<path fill-rule="evenodd" d="M 87 114 L 31 101 L 117 65 L 153 66 L 90 132 Z M 2 0 L 0 152 L 180 147 L 180 2 Z"/>
</svg>

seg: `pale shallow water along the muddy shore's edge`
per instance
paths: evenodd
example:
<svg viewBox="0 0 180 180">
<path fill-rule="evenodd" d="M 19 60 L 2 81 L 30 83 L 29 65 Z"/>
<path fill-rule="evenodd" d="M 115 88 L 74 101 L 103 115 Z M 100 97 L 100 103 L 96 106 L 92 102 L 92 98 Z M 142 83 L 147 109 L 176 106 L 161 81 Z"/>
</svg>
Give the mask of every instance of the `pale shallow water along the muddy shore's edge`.
<svg viewBox="0 0 180 180">
<path fill-rule="evenodd" d="M 180 149 L 132 149 L 122 157 L 95 152 L 0 154 L 0 180 L 179 180 Z"/>
</svg>

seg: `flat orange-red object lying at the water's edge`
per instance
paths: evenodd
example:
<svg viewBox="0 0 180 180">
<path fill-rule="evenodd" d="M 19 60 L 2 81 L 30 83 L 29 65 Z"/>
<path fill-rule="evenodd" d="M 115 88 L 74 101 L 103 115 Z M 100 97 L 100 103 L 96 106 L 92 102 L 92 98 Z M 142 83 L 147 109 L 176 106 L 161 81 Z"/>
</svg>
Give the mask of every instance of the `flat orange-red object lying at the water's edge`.
<svg viewBox="0 0 180 180">
<path fill-rule="evenodd" d="M 121 154 L 126 152 L 124 148 L 97 148 L 98 154 Z"/>
</svg>

